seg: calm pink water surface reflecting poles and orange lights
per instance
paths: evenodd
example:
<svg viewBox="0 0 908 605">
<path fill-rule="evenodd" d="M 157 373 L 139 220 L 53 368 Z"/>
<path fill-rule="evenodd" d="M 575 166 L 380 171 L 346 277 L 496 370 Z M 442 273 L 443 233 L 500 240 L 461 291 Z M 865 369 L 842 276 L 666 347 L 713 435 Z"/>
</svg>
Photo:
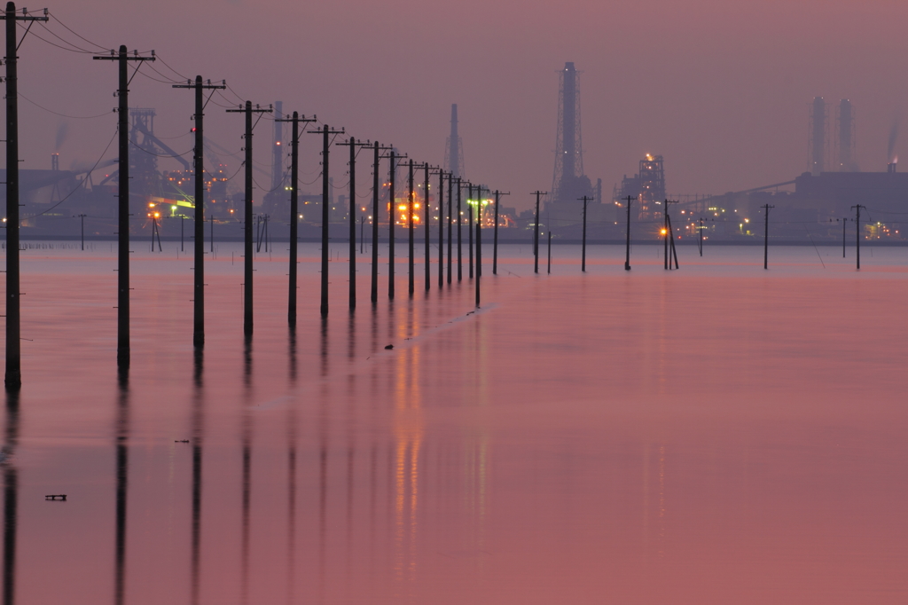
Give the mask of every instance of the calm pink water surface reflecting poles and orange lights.
<svg viewBox="0 0 908 605">
<path fill-rule="evenodd" d="M 245 342 L 229 248 L 203 354 L 191 262 L 137 254 L 128 376 L 110 255 L 24 254 L 5 602 L 904 602 L 902 249 L 508 246 L 475 313 L 399 271 L 350 314 L 332 263 L 322 321 L 310 246 Z"/>
</svg>

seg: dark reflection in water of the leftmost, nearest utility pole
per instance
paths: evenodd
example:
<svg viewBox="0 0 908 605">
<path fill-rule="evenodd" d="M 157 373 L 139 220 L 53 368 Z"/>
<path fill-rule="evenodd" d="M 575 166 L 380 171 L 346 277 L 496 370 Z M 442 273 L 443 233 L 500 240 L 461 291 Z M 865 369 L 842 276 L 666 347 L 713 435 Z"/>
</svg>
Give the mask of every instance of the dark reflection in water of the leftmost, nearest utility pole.
<svg viewBox="0 0 908 605">
<path fill-rule="evenodd" d="M 15 539 L 18 531 L 19 471 L 15 448 L 19 442 L 19 392 L 6 392 L 6 431 L 0 466 L 3 467 L 3 604 L 15 603 Z"/>
</svg>

